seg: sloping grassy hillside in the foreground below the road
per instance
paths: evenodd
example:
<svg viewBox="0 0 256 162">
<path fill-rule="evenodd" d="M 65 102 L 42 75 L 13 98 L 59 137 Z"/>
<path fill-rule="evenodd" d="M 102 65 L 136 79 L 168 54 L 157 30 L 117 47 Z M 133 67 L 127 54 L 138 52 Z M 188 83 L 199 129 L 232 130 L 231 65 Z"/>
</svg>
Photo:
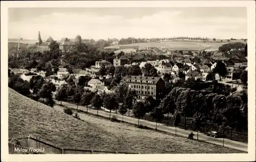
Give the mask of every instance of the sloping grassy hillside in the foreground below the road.
<svg viewBox="0 0 256 162">
<path fill-rule="evenodd" d="M 84 147 L 140 153 L 241 153 L 240 151 L 139 129 L 94 116 L 79 114 L 83 120 L 49 107 L 9 88 L 9 137 L 33 134 L 60 147 Z"/>
</svg>

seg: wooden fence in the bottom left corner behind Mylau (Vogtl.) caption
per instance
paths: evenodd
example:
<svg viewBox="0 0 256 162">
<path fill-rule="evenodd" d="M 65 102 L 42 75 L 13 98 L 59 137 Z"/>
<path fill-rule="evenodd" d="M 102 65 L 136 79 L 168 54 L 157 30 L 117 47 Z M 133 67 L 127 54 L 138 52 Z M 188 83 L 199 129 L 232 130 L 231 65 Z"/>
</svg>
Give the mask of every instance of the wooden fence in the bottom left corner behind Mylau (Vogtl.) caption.
<svg viewBox="0 0 256 162">
<path fill-rule="evenodd" d="M 81 147 L 61 148 L 33 135 L 9 139 L 9 154 L 138 154 L 131 152 L 88 150 Z"/>
</svg>

